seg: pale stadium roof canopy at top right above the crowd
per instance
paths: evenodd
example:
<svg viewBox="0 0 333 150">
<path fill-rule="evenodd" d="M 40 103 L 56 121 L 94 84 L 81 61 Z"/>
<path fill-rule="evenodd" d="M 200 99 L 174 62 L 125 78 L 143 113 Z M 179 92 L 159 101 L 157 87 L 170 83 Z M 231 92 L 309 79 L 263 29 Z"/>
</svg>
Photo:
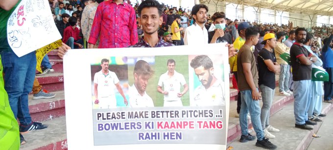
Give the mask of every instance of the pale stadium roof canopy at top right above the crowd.
<svg viewBox="0 0 333 150">
<path fill-rule="evenodd" d="M 200 0 L 210 3 L 211 0 Z M 244 4 L 248 6 L 272 9 L 284 12 L 301 13 L 307 15 L 333 16 L 333 0 L 212 0 L 214 3 L 225 1 L 228 3 Z"/>
</svg>

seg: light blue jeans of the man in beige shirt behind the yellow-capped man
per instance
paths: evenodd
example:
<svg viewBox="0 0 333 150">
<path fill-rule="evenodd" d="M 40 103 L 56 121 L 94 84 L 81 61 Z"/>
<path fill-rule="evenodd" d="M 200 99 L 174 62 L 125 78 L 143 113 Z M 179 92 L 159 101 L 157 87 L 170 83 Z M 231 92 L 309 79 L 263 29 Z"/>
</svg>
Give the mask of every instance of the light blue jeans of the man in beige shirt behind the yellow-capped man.
<svg viewBox="0 0 333 150">
<path fill-rule="evenodd" d="M 289 65 L 288 64 L 280 64 L 281 72 L 279 76 L 279 91 L 289 91 Z"/>
</svg>

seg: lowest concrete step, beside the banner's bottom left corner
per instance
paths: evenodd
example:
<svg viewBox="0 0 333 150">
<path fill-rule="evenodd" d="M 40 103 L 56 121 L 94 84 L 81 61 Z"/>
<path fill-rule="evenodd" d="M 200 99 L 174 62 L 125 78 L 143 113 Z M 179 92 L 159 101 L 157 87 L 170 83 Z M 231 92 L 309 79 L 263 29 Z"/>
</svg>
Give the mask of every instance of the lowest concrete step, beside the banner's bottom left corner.
<svg viewBox="0 0 333 150">
<path fill-rule="evenodd" d="M 20 150 L 67 150 L 66 118 L 44 121 L 47 129 L 24 133 L 26 144 Z"/>
</svg>

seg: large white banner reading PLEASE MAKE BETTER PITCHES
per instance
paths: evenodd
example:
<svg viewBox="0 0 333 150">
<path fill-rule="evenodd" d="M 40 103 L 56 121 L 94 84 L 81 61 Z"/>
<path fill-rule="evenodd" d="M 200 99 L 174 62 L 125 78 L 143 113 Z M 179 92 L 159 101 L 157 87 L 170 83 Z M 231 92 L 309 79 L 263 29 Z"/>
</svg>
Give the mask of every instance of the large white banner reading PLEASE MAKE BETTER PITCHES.
<svg viewBox="0 0 333 150">
<path fill-rule="evenodd" d="M 225 150 L 224 45 L 70 50 L 64 57 L 69 149 Z"/>
</svg>

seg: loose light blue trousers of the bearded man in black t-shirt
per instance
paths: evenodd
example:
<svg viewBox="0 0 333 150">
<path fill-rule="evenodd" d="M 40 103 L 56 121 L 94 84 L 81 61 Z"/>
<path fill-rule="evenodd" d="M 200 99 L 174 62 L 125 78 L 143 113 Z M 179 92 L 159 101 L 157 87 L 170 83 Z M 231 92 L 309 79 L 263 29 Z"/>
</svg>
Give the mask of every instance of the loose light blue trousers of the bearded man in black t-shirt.
<svg viewBox="0 0 333 150">
<path fill-rule="evenodd" d="M 311 80 L 294 81 L 294 115 L 297 125 L 308 120 L 308 109 L 311 101 Z"/>
</svg>

